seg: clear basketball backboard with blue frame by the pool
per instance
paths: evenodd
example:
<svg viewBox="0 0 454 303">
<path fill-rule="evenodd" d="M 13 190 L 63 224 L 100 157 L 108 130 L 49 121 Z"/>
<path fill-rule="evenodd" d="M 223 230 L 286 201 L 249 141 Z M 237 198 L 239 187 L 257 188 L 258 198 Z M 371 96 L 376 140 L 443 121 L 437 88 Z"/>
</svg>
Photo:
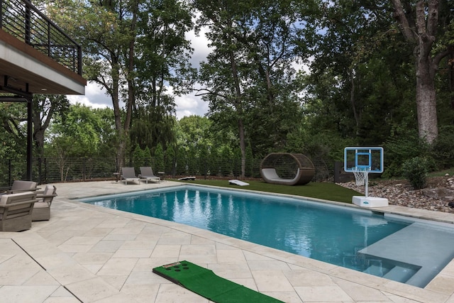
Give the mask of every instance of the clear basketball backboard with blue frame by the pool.
<svg viewBox="0 0 454 303">
<path fill-rule="evenodd" d="M 343 169 L 345 172 L 367 170 L 367 172 L 383 172 L 383 148 L 348 147 L 344 149 Z"/>
</svg>

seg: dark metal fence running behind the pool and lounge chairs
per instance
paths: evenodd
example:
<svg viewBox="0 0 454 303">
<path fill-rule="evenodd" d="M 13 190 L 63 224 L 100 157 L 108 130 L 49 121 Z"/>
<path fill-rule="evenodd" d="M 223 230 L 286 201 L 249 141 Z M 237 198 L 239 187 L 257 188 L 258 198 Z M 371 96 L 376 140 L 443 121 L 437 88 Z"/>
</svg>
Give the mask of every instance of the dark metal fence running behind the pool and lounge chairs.
<svg viewBox="0 0 454 303">
<path fill-rule="evenodd" d="M 260 178 L 262 159 L 250 159 L 245 163 L 245 177 Z M 314 160 L 313 160 L 314 162 Z M 167 159 L 161 168 L 154 158 L 127 161 L 124 166 L 151 166 L 153 171 L 164 172 L 167 178 L 197 176 L 199 178 L 239 178 L 241 175 L 240 159 Z M 328 180 L 333 176 L 333 169 L 324 162 L 315 161 L 314 182 Z M 84 182 L 93 180 L 114 180 L 114 172 L 119 172 L 116 158 L 33 158 L 33 181 L 39 184 L 51 182 Z M 26 162 L 22 158 L 0 160 L 0 187 L 12 184 L 13 180 L 26 178 Z"/>
</svg>

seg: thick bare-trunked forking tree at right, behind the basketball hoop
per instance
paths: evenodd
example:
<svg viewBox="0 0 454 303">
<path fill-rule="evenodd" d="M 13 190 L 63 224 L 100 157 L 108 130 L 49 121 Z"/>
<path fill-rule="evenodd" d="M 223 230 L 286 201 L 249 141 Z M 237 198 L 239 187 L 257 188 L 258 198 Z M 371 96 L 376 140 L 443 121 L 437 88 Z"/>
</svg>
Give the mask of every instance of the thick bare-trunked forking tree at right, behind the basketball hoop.
<svg viewBox="0 0 454 303">
<path fill-rule="evenodd" d="M 394 16 L 405 40 L 413 47 L 416 70 L 416 106 L 418 110 L 419 137 L 429 144 L 438 136 L 435 76 L 441 60 L 453 55 L 452 41 L 437 44 L 450 26 L 453 7 L 450 1 L 391 0 Z M 444 13 L 445 16 L 441 17 Z"/>
</svg>

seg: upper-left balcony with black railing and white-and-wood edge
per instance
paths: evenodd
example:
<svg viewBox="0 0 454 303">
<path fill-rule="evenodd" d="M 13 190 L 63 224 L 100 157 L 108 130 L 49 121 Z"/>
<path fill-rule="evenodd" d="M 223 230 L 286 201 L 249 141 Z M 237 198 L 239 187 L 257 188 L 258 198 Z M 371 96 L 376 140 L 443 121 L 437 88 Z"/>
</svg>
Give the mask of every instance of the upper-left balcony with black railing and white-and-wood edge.
<svg viewBox="0 0 454 303">
<path fill-rule="evenodd" d="M 0 0 L 0 93 L 84 94 L 82 48 L 27 0 Z"/>
</svg>

